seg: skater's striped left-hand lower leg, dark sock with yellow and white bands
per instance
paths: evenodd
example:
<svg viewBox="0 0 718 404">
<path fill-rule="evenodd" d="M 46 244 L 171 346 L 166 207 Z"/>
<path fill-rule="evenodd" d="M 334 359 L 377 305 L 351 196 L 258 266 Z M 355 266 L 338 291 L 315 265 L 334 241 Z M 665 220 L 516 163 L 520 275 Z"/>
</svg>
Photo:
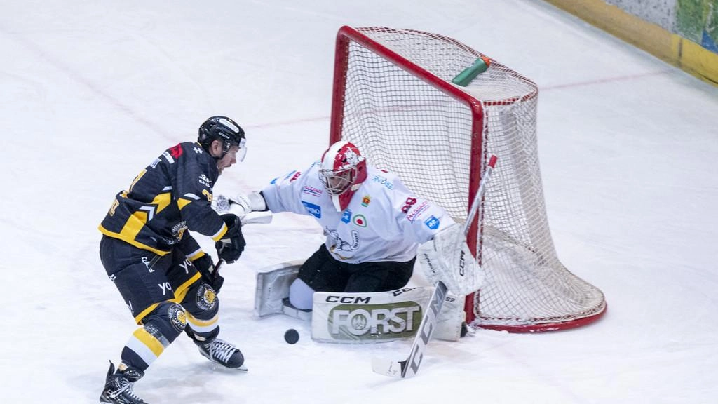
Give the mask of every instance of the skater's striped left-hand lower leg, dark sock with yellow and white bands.
<svg viewBox="0 0 718 404">
<path fill-rule="evenodd" d="M 182 306 L 162 302 L 142 319 L 142 327 L 136 329 L 122 349 L 123 364 L 144 372 L 164 349 L 172 344 L 187 325 Z"/>
</svg>

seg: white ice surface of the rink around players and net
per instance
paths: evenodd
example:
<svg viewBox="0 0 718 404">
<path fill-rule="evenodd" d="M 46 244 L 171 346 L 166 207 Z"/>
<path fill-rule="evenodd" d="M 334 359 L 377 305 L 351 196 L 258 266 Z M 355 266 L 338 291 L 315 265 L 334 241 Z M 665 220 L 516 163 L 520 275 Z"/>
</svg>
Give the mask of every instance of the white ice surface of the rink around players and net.
<svg viewBox="0 0 718 404">
<path fill-rule="evenodd" d="M 137 383 L 149 403 L 708 403 L 718 394 L 718 88 L 538 1 L 4 1 L 0 332 L 4 403 L 93 403 L 135 326 L 98 257 L 114 194 L 225 114 L 256 190 L 326 147 L 343 24 L 437 32 L 535 81 L 546 208 L 561 261 L 601 288 L 583 329 L 432 341 L 419 375 L 371 372 L 409 341 L 347 346 L 252 317 L 258 268 L 322 241 L 309 217 L 246 227 L 223 269 L 222 336 L 248 373 L 180 337 Z M 213 251 L 212 244 L 202 245 Z M 296 345 L 286 329 L 299 331 Z"/>
</svg>

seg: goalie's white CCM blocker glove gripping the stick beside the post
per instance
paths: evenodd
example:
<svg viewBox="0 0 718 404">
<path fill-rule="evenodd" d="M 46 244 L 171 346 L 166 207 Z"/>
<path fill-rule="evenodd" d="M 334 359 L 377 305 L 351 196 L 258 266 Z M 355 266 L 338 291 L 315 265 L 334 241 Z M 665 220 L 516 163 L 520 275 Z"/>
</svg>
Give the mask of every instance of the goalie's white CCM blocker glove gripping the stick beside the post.
<svg viewBox="0 0 718 404">
<path fill-rule="evenodd" d="M 474 293 L 484 281 L 484 272 L 471 254 L 459 224 L 452 224 L 421 244 L 416 259 L 432 285 L 440 280 L 455 295 Z"/>
</svg>

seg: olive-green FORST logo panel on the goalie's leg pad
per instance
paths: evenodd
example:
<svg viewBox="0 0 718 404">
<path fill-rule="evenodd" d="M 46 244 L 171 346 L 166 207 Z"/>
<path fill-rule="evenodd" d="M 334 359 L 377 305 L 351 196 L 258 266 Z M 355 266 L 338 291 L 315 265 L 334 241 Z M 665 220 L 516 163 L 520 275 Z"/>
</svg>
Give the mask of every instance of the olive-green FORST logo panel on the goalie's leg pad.
<svg viewBox="0 0 718 404">
<path fill-rule="evenodd" d="M 334 339 L 396 339 L 413 336 L 419 329 L 421 317 L 421 305 L 414 301 L 348 303 L 332 308 L 327 327 Z"/>
</svg>

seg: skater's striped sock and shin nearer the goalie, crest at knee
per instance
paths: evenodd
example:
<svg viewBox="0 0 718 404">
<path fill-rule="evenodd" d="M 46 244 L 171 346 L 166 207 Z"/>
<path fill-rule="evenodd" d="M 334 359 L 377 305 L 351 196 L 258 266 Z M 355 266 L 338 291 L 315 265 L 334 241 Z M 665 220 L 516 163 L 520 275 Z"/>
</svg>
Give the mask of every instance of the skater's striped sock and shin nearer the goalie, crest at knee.
<svg viewBox="0 0 718 404">
<path fill-rule="evenodd" d="M 197 282 L 182 299 L 182 307 L 187 311 L 187 334 L 192 339 L 204 341 L 219 334 L 219 300 L 217 293 L 208 284 Z"/>
</svg>

